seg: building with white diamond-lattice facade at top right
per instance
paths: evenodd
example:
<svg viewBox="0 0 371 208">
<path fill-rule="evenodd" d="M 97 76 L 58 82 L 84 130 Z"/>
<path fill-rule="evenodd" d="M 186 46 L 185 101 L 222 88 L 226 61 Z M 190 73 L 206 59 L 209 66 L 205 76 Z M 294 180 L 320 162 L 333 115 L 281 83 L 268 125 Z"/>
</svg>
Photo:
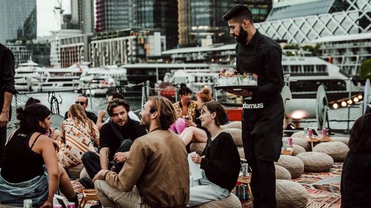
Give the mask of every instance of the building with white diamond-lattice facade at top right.
<svg viewBox="0 0 371 208">
<path fill-rule="evenodd" d="M 371 0 L 280 0 L 273 4 L 267 21 L 255 27 L 288 43 L 366 33 L 371 31 Z"/>
</svg>

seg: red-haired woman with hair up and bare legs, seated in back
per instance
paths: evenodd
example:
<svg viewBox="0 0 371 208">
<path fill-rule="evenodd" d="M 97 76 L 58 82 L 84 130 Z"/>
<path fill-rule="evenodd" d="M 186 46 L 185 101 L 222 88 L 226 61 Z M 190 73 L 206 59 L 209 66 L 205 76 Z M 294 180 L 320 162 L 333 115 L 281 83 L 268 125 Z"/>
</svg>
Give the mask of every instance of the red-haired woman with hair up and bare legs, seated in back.
<svg viewBox="0 0 371 208">
<path fill-rule="evenodd" d="M 203 104 L 209 101 L 211 101 L 210 89 L 205 87 L 197 94 L 197 103 Z M 190 142 L 206 142 L 210 135 L 209 131 L 207 131 L 205 127 L 201 126 L 201 121 L 198 118 L 199 116 L 200 109 L 196 111 L 195 121 L 191 120 L 189 117 L 188 119 L 185 119 L 185 123 L 188 124 L 188 127 L 185 128 L 182 134 L 180 134 L 185 146 Z"/>
</svg>

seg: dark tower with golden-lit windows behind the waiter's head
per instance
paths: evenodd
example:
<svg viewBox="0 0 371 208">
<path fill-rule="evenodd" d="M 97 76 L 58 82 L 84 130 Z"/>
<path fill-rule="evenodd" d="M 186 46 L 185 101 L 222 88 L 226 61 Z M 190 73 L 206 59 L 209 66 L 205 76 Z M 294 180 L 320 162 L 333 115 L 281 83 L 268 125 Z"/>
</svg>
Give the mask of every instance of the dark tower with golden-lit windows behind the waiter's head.
<svg viewBox="0 0 371 208">
<path fill-rule="evenodd" d="M 204 39 L 212 43 L 233 42 L 222 16 L 235 4 L 249 7 L 254 22 L 264 21 L 272 8 L 272 0 L 178 0 L 179 44 L 201 46 Z"/>
</svg>

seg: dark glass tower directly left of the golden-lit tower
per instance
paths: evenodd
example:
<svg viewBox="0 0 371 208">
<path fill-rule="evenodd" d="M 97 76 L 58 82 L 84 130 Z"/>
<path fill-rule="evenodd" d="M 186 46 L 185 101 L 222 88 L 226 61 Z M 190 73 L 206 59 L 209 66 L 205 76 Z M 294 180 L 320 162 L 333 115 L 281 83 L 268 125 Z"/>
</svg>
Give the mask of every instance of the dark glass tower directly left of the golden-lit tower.
<svg viewBox="0 0 371 208">
<path fill-rule="evenodd" d="M 133 27 L 160 32 L 166 36 L 166 48 L 178 43 L 177 0 L 132 0 Z"/>
</svg>

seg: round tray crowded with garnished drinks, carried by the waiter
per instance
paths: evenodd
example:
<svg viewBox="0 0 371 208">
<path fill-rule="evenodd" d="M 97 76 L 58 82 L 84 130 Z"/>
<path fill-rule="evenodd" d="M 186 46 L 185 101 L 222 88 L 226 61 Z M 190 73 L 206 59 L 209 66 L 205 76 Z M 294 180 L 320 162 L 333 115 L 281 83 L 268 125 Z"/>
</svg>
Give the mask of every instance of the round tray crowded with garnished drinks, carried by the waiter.
<svg viewBox="0 0 371 208">
<path fill-rule="evenodd" d="M 236 73 L 233 68 L 222 68 L 219 76 L 217 77 L 216 90 L 226 91 L 241 91 L 258 88 L 258 75 L 243 73 Z"/>
</svg>

